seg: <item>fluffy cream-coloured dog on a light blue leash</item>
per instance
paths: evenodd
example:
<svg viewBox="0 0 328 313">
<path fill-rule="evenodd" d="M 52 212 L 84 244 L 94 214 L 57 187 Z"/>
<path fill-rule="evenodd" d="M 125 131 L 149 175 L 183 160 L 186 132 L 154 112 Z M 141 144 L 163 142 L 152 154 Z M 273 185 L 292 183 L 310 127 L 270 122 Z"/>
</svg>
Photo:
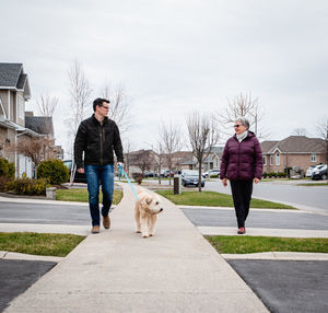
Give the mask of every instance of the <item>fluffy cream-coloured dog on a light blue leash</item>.
<svg viewBox="0 0 328 313">
<path fill-rule="evenodd" d="M 139 190 L 137 194 L 139 197 L 134 211 L 137 233 L 142 233 L 142 237 L 152 236 L 155 233 L 157 213 L 163 211 L 160 197 L 145 190 Z"/>
</svg>

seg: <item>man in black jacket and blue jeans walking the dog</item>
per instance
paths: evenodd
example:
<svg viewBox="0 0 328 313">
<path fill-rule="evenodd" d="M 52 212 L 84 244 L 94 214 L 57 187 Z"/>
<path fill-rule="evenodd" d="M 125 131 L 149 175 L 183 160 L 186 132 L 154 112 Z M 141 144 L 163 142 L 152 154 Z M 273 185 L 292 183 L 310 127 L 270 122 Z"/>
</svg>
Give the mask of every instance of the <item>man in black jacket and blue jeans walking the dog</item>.
<svg viewBox="0 0 328 313">
<path fill-rule="evenodd" d="M 94 114 L 84 119 L 78 129 L 74 142 L 74 160 L 79 173 L 85 173 L 89 206 L 92 218 L 92 233 L 99 232 L 99 183 L 103 192 L 103 225 L 109 229 L 109 209 L 114 193 L 114 153 L 118 164 L 124 166 L 124 153 L 116 123 L 108 118 L 109 101 L 96 98 Z M 82 154 L 84 152 L 84 164 Z"/>
</svg>

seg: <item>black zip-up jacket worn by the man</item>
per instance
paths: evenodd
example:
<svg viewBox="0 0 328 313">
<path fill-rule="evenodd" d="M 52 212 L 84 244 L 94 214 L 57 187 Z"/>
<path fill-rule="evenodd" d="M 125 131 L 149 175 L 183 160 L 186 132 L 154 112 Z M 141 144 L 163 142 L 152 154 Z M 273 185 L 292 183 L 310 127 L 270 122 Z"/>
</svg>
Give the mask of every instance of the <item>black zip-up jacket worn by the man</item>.
<svg viewBox="0 0 328 313">
<path fill-rule="evenodd" d="M 94 114 L 79 126 L 74 142 L 74 160 L 77 169 L 84 165 L 114 164 L 114 154 L 118 162 L 124 162 L 124 153 L 119 130 L 116 123 L 105 118 L 103 125 L 95 118 Z M 84 165 L 82 154 L 84 151 Z"/>
</svg>

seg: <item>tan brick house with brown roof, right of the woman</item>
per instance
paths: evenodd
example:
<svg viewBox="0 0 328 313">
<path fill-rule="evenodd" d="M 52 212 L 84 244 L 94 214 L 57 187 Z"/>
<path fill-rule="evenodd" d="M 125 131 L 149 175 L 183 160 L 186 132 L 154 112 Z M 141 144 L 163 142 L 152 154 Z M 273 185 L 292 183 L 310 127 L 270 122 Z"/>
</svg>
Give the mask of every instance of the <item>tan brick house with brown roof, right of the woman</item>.
<svg viewBox="0 0 328 313">
<path fill-rule="evenodd" d="M 290 136 L 280 141 L 266 140 L 261 143 L 263 172 L 284 172 L 298 166 L 306 171 L 309 165 L 325 163 L 325 140 L 306 136 Z"/>
</svg>

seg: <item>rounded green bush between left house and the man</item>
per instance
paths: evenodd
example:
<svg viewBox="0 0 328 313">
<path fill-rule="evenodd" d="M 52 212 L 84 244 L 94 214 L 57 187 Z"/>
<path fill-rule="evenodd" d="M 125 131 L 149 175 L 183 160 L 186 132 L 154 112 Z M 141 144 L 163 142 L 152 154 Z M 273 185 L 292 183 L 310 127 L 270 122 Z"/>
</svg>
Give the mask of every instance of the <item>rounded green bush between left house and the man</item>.
<svg viewBox="0 0 328 313">
<path fill-rule="evenodd" d="M 48 179 L 51 185 L 59 185 L 69 181 L 70 173 L 61 160 L 49 159 L 38 164 L 37 177 Z"/>
</svg>

